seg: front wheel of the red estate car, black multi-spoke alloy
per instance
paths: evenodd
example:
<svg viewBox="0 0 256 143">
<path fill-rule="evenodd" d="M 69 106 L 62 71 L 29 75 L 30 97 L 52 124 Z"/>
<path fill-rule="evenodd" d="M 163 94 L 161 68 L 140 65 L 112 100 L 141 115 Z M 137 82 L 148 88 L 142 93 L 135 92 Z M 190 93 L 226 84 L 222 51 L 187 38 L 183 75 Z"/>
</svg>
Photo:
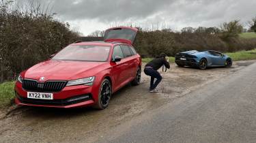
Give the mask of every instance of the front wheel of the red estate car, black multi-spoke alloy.
<svg viewBox="0 0 256 143">
<path fill-rule="evenodd" d="M 108 79 L 104 79 L 100 86 L 100 91 L 98 94 L 98 102 L 94 106 L 97 109 L 104 109 L 109 106 L 109 101 L 111 99 L 111 82 Z"/>
</svg>

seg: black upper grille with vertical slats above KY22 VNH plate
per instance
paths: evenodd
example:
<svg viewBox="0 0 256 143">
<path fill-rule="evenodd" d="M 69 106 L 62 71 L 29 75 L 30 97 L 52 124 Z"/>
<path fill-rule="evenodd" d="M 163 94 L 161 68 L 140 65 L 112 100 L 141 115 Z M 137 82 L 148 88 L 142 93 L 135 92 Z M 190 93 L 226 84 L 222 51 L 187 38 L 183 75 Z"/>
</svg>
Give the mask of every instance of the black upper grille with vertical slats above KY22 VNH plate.
<svg viewBox="0 0 256 143">
<path fill-rule="evenodd" d="M 23 89 L 26 91 L 59 92 L 66 84 L 66 81 L 47 81 L 41 83 L 35 80 L 23 80 Z"/>
</svg>

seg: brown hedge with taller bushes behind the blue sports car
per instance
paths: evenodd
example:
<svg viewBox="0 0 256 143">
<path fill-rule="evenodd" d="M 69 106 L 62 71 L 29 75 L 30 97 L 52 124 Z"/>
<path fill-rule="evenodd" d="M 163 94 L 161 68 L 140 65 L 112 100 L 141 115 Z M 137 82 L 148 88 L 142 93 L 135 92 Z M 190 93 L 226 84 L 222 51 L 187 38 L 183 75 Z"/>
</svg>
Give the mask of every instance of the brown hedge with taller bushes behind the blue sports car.
<svg viewBox="0 0 256 143">
<path fill-rule="evenodd" d="M 139 31 L 134 47 L 142 57 L 156 57 L 160 52 L 175 56 L 177 52 L 186 50 L 236 52 L 256 48 L 256 38 L 239 37 L 240 26 L 237 22 L 229 22 L 222 30 L 216 27 L 187 27 L 181 33 L 166 30 Z"/>
</svg>

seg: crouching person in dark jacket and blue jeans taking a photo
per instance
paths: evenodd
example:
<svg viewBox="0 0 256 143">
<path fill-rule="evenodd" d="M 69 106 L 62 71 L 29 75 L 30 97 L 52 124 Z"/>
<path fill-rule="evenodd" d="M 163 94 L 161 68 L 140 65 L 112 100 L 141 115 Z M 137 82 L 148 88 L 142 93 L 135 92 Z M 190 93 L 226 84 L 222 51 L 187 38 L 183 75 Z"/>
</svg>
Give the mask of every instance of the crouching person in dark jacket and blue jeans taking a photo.
<svg viewBox="0 0 256 143">
<path fill-rule="evenodd" d="M 162 67 L 162 65 L 165 65 L 165 67 L 167 67 L 167 69 L 170 68 L 170 64 L 167 61 L 167 59 L 165 59 L 165 57 L 166 57 L 166 54 L 162 53 L 162 54 L 160 54 L 159 57 L 156 57 L 156 59 L 153 59 L 152 61 L 150 61 L 149 63 L 147 63 L 145 65 L 145 69 L 144 69 L 145 74 L 147 76 L 151 76 L 150 93 L 158 92 L 158 90 L 156 89 L 156 86 L 158 86 L 158 84 L 162 80 L 162 76 L 160 75 L 160 73 L 157 70 L 160 69 L 160 67 Z M 155 78 L 156 78 L 156 81 L 155 81 Z"/>
</svg>

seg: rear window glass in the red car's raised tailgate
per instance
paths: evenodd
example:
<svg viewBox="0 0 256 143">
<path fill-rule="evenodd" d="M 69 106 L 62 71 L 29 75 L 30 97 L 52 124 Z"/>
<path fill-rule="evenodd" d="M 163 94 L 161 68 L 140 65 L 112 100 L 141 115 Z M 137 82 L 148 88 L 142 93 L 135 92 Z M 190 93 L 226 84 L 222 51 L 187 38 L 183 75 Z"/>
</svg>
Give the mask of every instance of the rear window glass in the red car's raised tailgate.
<svg viewBox="0 0 256 143">
<path fill-rule="evenodd" d="M 104 40 L 106 39 L 128 39 L 131 42 L 133 42 L 134 37 L 136 36 L 137 32 L 132 31 L 131 29 L 111 29 L 109 31 L 106 31 L 104 35 Z"/>
</svg>

